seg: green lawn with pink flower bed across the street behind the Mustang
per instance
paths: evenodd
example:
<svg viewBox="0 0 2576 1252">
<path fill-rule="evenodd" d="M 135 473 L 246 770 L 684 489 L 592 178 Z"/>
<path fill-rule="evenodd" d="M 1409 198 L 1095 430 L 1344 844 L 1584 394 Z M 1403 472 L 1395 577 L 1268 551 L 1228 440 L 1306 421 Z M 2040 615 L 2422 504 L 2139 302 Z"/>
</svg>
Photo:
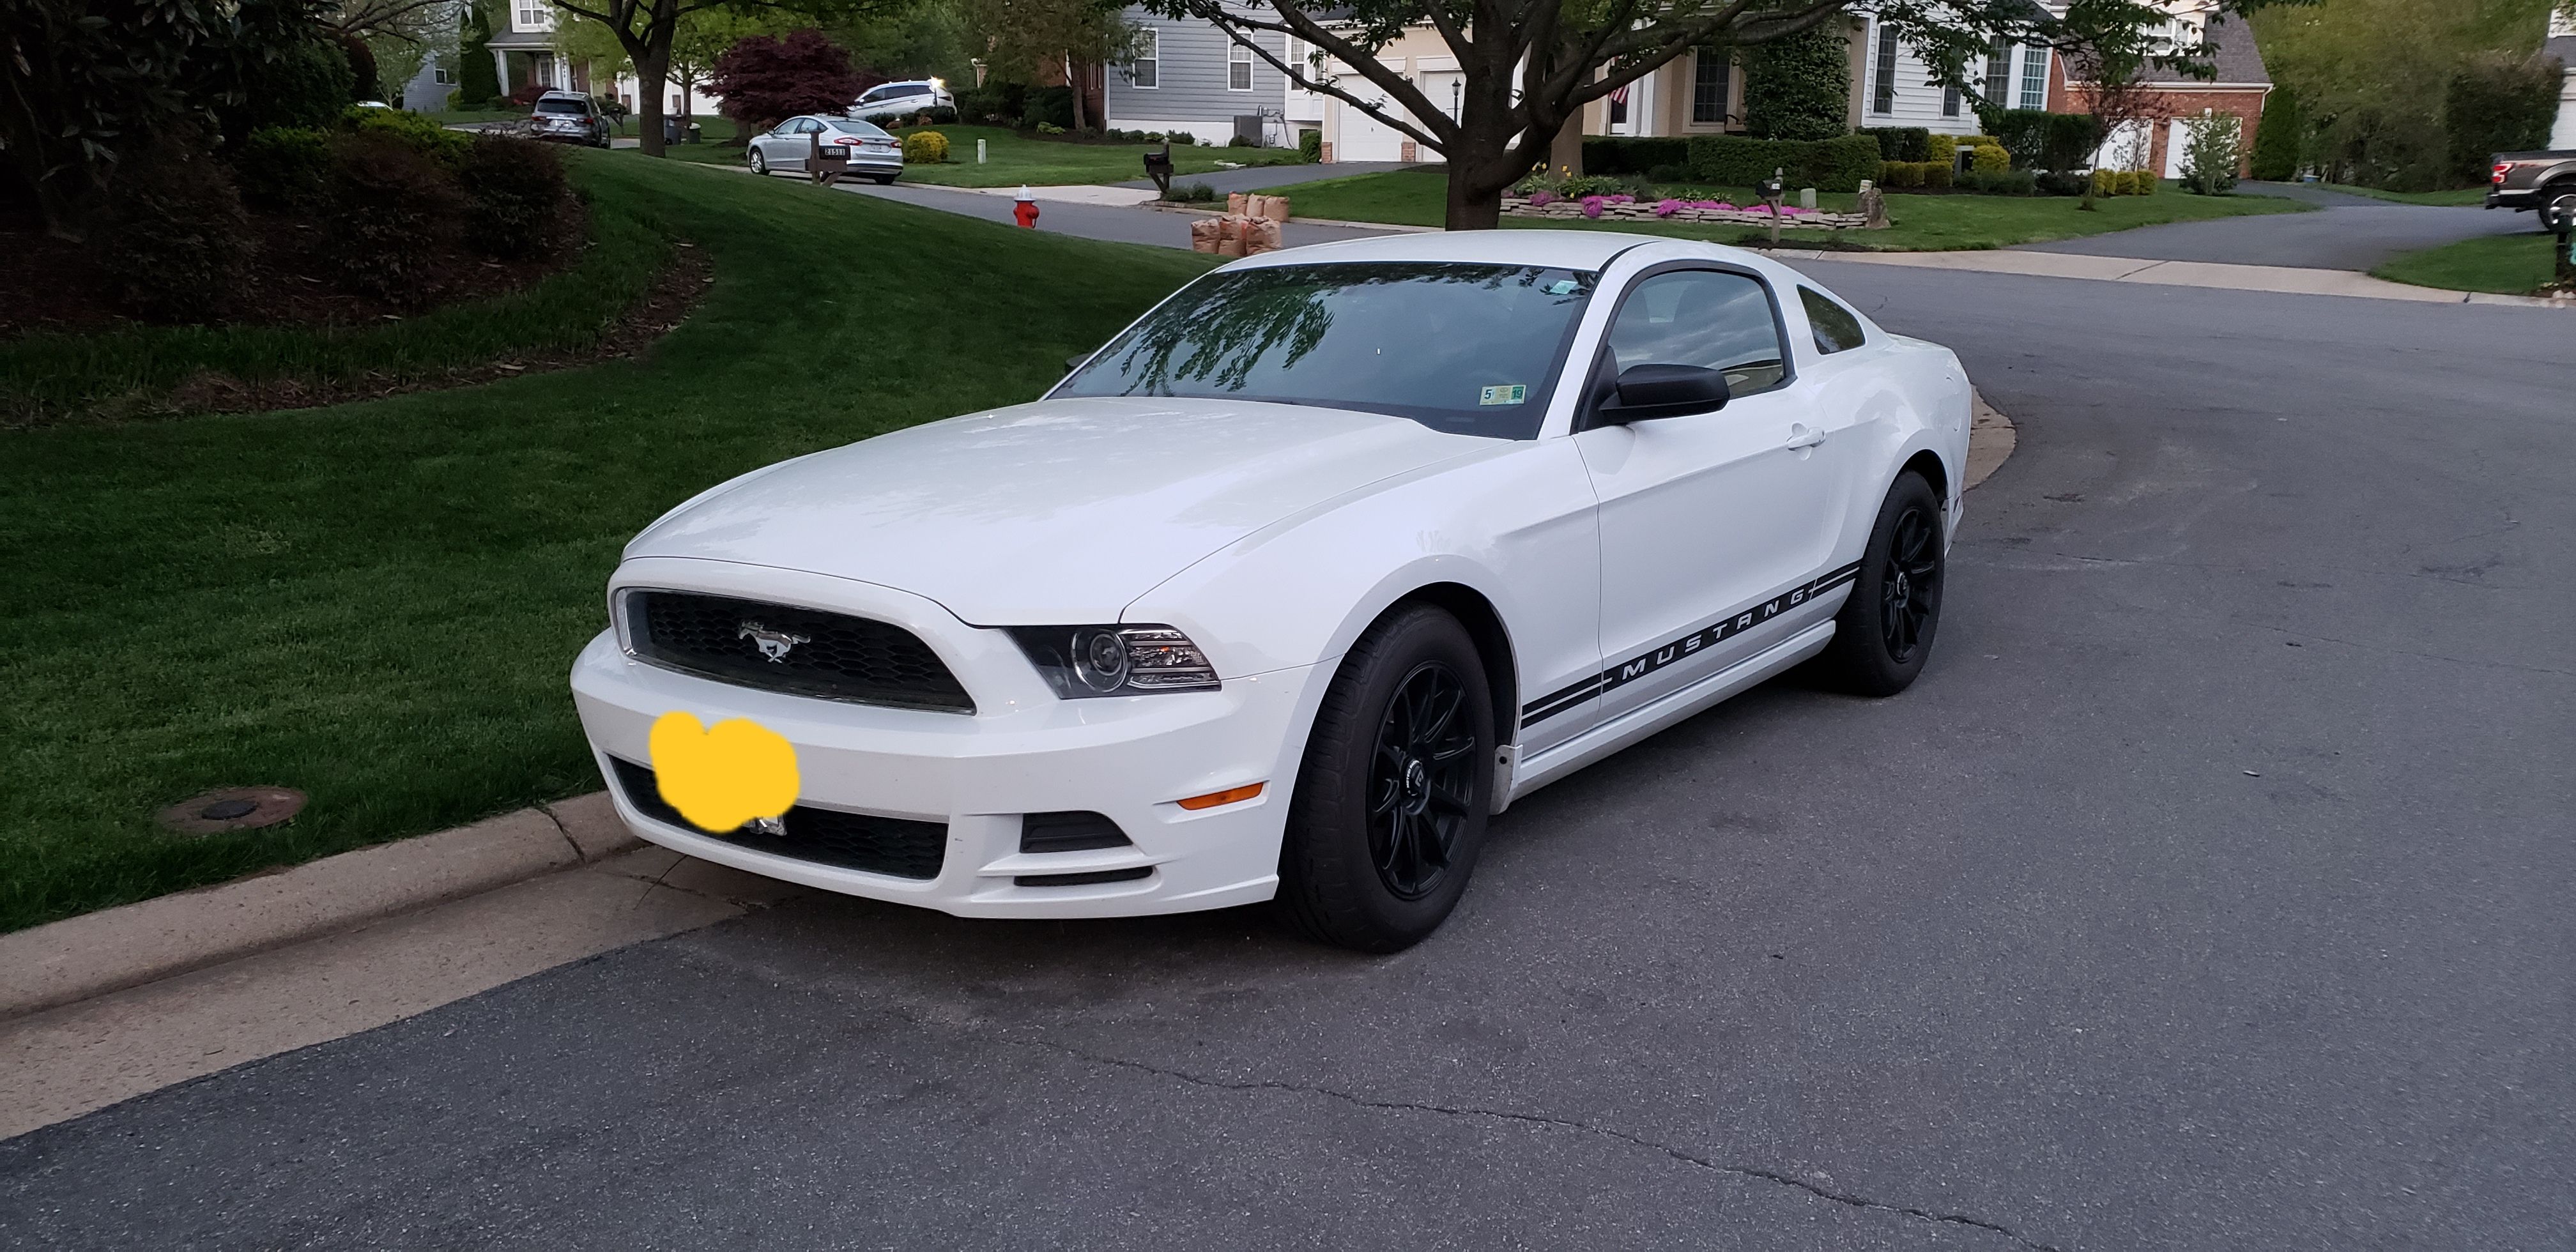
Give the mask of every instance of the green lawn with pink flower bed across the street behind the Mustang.
<svg viewBox="0 0 2576 1252">
<path fill-rule="evenodd" d="M 1419 170 L 1383 170 L 1352 178 L 1327 178 L 1273 188 L 1288 196 L 1296 216 L 1321 216 L 1340 222 L 1396 222 L 1412 227 L 1437 227 L 1445 204 L 1448 175 L 1437 165 Z M 1669 188 L 1682 198 L 1734 198 L 1747 204 L 1744 188 Z M 1819 196 L 1819 209 L 1852 209 L 1855 196 Z M 1783 229 L 1780 242 L 1868 247 L 1873 252 L 2004 247 L 2040 240 L 2074 240 L 2161 222 L 2200 222 L 2210 216 L 2241 214 L 2295 214 L 2308 206 L 2269 196 L 2190 196 L 2172 183 L 2154 196 L 2112 196 L 2094 201 L 2092 211 L 2076 209 L 2076 198 L 2058 196 L 1906 196 L 1888 193 L 1888 229 Z M 1628 229 L 1646 234 L 1677 234 L 1685 240 L 1757 242 L 1770 240 L 1765 227 L 1716 227 L 1692 222 L 1553 222 L 1507 216 L 1504 227 L 1589 227 Z"/>
</svg>

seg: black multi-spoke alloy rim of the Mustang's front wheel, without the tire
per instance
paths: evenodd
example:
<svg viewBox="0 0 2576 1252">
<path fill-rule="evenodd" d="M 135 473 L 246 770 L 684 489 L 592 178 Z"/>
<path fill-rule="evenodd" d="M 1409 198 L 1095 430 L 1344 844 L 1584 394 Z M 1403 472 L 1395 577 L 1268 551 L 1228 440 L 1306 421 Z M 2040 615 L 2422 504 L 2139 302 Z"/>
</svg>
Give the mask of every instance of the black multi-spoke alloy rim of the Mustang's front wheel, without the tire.
<svg viewBox="0 0 2576 1252">
<path fill-rule="evenodd" d="M 1378 719 L 1368 765 L 1368 860 L 1396 899 L 1440 889 L 1476 793 L 1476 734 L 1466 680 L 1445 662 L 1414 665 Z"/>
</svg>

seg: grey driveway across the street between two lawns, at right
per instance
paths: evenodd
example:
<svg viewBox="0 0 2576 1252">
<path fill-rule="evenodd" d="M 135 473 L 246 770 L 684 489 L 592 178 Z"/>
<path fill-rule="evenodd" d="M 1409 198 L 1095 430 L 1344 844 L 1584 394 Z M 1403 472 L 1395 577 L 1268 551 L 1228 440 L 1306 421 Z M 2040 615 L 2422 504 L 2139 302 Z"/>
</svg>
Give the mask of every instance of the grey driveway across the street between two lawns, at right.
<svg viewBox="0 0 2576 1252">
<path fill-rule="evenodd" d="M 2020 245 L 2022 252 L 2081 252 L 2138 260 L 2218 260 L 2228 265 L 2293 265 L 2370 270 L 2398 252 L 2442 247 L 2481 234 L 2540 229 L 2532 214 L 2442 209 L 2344 196 L 2287 183 L 2246 183 L 2257 196 L 2316 204 L 2313 214 L 2223 216 L 2123 229 L 2087 240 Z M 2174 196 L 2182 196 L 2174 191 Z"/>
</svg>

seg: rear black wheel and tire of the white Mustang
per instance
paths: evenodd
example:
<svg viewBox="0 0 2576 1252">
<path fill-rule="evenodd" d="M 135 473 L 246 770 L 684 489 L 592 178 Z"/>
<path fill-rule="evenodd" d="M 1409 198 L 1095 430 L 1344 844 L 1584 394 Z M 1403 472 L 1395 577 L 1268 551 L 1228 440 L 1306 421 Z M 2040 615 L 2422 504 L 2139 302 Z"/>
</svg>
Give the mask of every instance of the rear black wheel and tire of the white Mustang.
<svg viewBox="0 0 2576 1252">
<path fill-rule="evenodd" d="M 1911 469 L 1896 474 L 1870 526 L 1852 598 L 1834 613 L 1834 641 L 1819 657 L 1826 680 L 1855 696 L 1896 696 L 1914 685 L 1940 629 L 1947 572 L 1940 495 Z"/>
</svg>

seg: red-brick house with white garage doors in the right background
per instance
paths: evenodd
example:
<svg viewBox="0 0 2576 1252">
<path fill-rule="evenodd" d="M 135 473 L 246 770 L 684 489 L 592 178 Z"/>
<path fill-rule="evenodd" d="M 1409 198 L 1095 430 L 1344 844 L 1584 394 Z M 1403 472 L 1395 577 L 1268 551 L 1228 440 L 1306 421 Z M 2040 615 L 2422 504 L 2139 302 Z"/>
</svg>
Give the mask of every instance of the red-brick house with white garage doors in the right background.
<svg viewBox="0 0 2576 1252">
<path fill-rule="evenodd" d="M 2182 149 L 2192 139 L 2184 124 L 2210 111 L 2236 119 L 2236 173 L 2244 175 L 2254 160 L 2262 103 L 2272 95 L 2272 72 L 2262 64 L 2254 28 L 2218 13 L 2215 0 L 2164 0 L 2164 8 L 2172 13 L 2166 39 L 2177 44 L 2208 41 L 2218 77 L 2200 82 L 2164 67 L 2148 67 L 2141 75 L 2148 98 L 2146 121 L 2107 137 L 2094 152 L 2094 165 L 2182 178 Z M 2092 113 L 2092 85 L 2069 82 L 2063 59 L 2050 67 L 2048 111 Z"/>
</svg>

